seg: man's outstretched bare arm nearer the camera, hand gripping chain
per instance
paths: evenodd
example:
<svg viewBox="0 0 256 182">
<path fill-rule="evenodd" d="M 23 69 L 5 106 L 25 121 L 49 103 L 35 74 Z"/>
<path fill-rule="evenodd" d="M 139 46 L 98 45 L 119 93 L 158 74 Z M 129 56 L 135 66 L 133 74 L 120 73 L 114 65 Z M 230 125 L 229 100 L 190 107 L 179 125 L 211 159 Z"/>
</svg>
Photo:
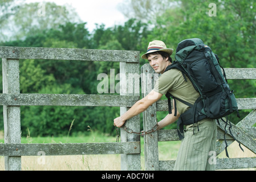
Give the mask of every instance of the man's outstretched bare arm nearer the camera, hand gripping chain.
<svg viewBox="0 0 256 182">
<path fill-rule="evenodd" d="M 161 93 L 152 90 L 147 96 L 137 101 L 128 111 L 123 115 L 114 119 L 114 126 L 121 127 L 127 119 L 134 117 L 148 109 L 149 106 L 157 102 L 162 97 Z"/>
</svg>

